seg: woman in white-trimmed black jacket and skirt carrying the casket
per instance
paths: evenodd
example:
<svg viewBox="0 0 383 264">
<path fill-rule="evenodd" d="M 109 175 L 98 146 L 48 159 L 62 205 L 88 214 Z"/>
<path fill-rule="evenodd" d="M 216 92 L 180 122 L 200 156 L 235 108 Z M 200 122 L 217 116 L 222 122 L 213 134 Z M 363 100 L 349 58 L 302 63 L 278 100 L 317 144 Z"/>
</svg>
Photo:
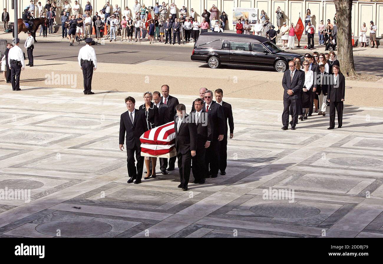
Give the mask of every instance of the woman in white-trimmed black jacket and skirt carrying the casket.
<svg viewBox="0 0 383 264">
<path fill-rule="evenodd" d="M 158 112 L 158 107 L 152 102 L 153 94 L 151 92 L 144 93 L 144 104 L 140 106 L 139 110 L 145 112 L 147 128 L 151 130 L 160 124 L 160 114 Z M 150 162 L 152 161 L 152 171 L 150 171 Z M 155 178 L 155 165 L 157 163 L 156 157 L 145 157 L 146 165 L 146 177 L 144 180 L 147 180 L 152 175 L 152 178 Z"/>
</svg>

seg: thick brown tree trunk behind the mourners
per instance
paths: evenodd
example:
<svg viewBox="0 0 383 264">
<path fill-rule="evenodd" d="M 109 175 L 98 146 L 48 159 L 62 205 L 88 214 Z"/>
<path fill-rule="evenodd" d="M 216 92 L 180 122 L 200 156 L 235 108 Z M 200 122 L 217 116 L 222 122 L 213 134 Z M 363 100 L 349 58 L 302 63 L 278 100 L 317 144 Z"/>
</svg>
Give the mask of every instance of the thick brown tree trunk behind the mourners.
<svg viewBox="0 0 383 264">
<path fill-rule="evenodd" d="M 337 50 L 342 74 L 357 77 L 352 53 L 351 10 L 352 0 L 334 0 L 337 14 Z"/>
</svg>

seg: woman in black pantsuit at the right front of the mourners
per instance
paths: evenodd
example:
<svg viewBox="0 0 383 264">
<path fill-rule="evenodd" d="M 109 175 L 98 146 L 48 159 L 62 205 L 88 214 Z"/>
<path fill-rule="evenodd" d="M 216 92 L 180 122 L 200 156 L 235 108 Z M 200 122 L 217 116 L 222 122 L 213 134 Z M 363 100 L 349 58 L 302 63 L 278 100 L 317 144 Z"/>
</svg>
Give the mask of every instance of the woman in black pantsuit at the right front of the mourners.
<svg viewBox="0 0 383 264">
<path fill-rule="evenodd" d="M 332 75 L 334 82 L 329 85 L 327 94 L 327 101 L 330 102 L 330 127 L 327 129 L 335 128 L 335 109 L 338 113 L 338 128 L 342 127 L 343 118 L 345 79 L 344 75 L 339 73 L 339 66 L 332 66 L 332 72 L 334 72 Z"/>
</svg>

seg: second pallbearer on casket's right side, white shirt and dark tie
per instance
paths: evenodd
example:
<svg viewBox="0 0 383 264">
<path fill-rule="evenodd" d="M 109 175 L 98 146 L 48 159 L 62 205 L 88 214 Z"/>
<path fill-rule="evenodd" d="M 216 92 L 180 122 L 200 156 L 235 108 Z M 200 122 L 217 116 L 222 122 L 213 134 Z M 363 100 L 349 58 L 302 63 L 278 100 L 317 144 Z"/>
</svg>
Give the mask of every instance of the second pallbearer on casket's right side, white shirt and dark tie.
<svg viewBox="0 0 383 264">
<path fill-rule="evenodd" d="M 193 161 L 193 183 L 204 184 L 206 178 L 205 154 L 213 139 L 213 120 L 203 110 L 201 98 L 195 100 L 194 107 L 195 110 L 190 113 L 191 120 L 197 127 L 196 155 L 191 158 Z"/>
</svg>

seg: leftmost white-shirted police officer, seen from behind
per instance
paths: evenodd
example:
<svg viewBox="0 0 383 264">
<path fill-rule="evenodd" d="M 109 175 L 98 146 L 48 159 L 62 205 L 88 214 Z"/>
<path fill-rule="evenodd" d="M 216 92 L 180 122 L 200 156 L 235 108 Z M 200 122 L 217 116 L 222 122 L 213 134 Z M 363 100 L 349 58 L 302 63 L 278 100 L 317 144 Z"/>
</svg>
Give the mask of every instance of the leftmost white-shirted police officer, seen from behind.
<svg viewBox="0 0 383 264">
<path fill-rule="evenodd" d="M 15 38 L 16 43 L 8 52 L 8 65 L 11 70 L 11 83 L 13 91 L 20 91 L 20 72 L 24 70 L 24 54 L 19 47 L 20 39 Z"/>
</svg>

